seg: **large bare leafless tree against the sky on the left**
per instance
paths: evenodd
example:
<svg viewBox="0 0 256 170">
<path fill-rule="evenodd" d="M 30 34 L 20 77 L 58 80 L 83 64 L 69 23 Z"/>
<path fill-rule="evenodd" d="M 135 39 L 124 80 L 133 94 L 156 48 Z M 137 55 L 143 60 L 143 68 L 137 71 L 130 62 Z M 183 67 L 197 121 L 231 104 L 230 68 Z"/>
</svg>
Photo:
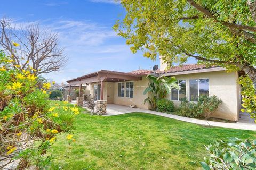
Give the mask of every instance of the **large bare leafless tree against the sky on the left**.
<svg viewBox="0 0 256 170">
<path fill-rule="evenodd" d="M 17 25 L 11 19 L 1 19 L 0 48 L 12 57 L 14 67 L 23 70 L 30 66 L 36 75 L 60 70 L 67 62 L 57 33 L 37 23 Z"/>
</svg>

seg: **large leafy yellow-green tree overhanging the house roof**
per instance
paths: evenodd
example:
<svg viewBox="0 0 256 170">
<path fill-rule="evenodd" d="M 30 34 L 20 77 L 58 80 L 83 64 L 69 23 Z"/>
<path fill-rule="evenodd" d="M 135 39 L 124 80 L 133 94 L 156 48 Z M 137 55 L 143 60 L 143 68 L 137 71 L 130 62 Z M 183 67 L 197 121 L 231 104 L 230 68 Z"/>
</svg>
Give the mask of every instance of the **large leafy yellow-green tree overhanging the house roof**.
<svg viewBox="0 0 256 170">
<path fill-rule="evenodd" d="M 165 63 L 198 63 L 244 71 L 256 87 L 255 0 L 122 0 L 114 29 L 132 45 Z"/>
</svg>

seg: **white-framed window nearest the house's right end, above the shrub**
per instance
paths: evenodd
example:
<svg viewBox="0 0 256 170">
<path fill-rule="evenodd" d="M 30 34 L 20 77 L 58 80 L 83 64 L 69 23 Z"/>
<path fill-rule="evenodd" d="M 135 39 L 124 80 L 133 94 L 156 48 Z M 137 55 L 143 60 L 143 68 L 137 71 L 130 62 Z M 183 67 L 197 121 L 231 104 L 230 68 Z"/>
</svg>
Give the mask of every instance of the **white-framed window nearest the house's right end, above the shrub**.
<svg viewBox="0 0 256 170">
<path fill-rule="evenodd" d="M 189 80 L 189 101 L 198 101 L 200 95 L 209 95 L 209 79 Z"/>
</svg>

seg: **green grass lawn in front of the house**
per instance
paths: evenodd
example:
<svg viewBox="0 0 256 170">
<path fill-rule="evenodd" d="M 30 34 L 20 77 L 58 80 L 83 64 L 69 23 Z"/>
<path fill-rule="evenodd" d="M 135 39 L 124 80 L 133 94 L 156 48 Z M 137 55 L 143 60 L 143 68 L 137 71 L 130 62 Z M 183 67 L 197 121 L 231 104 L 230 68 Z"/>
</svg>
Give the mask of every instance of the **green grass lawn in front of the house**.
<svg viewBox="0 0 256 170">
<path fill-rule="evenodd" d="M 256 137 L 253 131 L 207 128 L 146 113 L 86 113 L 76 117 L 76 142 L 69 145 L 60 135 L 52 146 L 55 163 L 63 169 L 201 169 L 204 145 L 232 136 Z"/>
</svg>

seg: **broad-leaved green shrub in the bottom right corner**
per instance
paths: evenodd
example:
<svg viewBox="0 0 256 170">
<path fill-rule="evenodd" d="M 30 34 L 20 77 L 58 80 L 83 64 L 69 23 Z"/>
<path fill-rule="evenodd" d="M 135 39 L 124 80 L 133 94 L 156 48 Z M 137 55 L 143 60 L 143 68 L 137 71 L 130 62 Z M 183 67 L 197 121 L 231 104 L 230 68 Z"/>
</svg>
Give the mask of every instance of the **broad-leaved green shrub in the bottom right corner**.
<svg viewBox="0 0 256 170">
<path fill-rule="evenodd" d="M 200 162 L 203 169 L 256 169 L 256 140 L 228 139 L 206 147 L 210 157 Z"/>
</svg>

